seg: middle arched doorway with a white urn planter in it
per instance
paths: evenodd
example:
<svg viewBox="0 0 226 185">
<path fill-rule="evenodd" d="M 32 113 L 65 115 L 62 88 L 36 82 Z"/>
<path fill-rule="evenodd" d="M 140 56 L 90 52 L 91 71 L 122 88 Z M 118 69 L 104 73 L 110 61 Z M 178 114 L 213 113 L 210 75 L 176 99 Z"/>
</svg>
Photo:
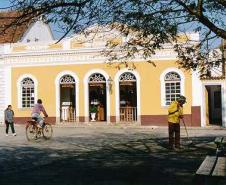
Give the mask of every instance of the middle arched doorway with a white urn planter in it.
<svg viewBox="0 0 226 185">
<path fill-rule="evenodd" d="M 90 121 L 107 120 L 106 79 L 100 73 L 94 73 L 88 80 Z M 92 117 L 91 117 L 92 114 Z"/>
</svg>

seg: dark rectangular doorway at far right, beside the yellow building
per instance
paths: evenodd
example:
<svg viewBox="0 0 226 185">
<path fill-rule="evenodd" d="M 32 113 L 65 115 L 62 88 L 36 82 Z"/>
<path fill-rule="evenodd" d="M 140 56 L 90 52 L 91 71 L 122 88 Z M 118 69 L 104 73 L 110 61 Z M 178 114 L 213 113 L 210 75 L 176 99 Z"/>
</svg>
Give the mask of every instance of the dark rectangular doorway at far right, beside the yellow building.
<svg viewBox="0 0 226 185">
<path fill-rule="evenodd" d="M 222 100 L 220 85 L 206 85 L 206 120 L 210 125 L 222 125 Z"/>
</svg>

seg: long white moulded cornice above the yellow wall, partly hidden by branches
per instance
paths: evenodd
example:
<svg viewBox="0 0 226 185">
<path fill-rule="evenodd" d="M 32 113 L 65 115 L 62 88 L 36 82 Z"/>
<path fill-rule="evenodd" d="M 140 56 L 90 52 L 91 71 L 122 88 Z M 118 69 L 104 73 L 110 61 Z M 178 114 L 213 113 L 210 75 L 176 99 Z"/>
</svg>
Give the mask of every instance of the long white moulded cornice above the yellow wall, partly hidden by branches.
<svg viewBox="0 0 226 185">
<path fill-rule="evenodd" d="M 104 63 L 108 58 L 101 52 L 103 47 L 99 48 L 81 48 L 73 50 L 55 50 L 39 52 L 18 52 L 13 54 L 4 54 L 0 57 L 0 63 L 10 66 L 37 66 L 37 65 L 65 65 L 65 64 L 93 64 Z M 177 54 L 172 49 L 162 49 L 156 51 L 150 59 L 136 57 L 133 62 L 143 62 L 147 60 L 176 60 Z"/>
</svg>

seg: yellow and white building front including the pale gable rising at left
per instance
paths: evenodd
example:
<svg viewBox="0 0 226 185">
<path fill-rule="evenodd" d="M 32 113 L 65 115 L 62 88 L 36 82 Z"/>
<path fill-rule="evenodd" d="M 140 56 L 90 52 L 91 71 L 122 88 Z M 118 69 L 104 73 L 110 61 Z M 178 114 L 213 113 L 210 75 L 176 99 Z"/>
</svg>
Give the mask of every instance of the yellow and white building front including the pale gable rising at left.
<svg viewBox="0 0 226 185">
<path fill-rule="evenodd" d="M 211 114 L 220 110 L 223 117 L 222 121 L 217 120 L 219 116 L 215 120 L 211 118 L 211 123 L 226 125 L 222 103 L 224 79 L 202 81 L 197 73 L 179 69 L 175 63 L 177 54 L 167 44 L 152 57 L 156 66 L 139 57 L 128 65 L 118 67 L 117 62 L 109 65 L 101 55 L 107 39 L 112 38 L 105 34 L 100 31 L 91 40 L 77 34 L 56 43 L 49 27 L 39 22 L 16 43 L 2 44 L 1 112 L 12 104 L 16 123 L 26 123 L 32 106 L 40 98 L 51 123 L 95 120 L 167 125 L 167 106 L 182 94 L 187 97 L 186 123 L 206 126 L 210 123 L 207 112 L 212 108 L 206 103 L 205 93 L 209 91 L 213 93 L 209 100 L 219 100 L 220 95 L 220 102 Z M 189 36 L 199 38 L 197 33 Z M 95 110 L 97 113 L 92 117 L 91 112 Z M 3 114 L 0 116 L 3 121 Z"/>
</svg>

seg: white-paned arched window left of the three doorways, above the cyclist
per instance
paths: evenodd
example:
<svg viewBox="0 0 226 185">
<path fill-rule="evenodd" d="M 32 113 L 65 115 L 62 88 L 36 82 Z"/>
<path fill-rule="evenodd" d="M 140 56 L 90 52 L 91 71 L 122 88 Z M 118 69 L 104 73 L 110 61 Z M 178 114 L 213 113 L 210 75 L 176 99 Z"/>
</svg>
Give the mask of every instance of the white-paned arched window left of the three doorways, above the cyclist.
<svg viewBox="0 0 226 185">
<path fill-rule="evenodd" d="M 27 77 L 21 81 L 21 106 L 22 108 L 33 107 L 35 103 L 34 81 Z"/>
</svg>

